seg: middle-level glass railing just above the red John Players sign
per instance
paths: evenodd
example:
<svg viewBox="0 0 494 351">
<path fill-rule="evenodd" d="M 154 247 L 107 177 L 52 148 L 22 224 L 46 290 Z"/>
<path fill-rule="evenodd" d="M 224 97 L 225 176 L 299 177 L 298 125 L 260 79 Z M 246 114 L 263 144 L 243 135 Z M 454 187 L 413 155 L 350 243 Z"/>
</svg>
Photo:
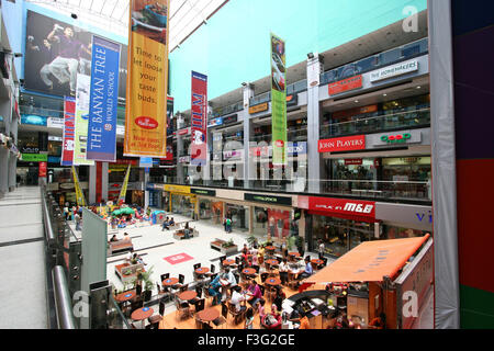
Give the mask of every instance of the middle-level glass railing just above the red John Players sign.
<svg viewBox="0 0 494 351">
<path fill-rule="evenodd" d="M 428 126 L 430 126 L 430 109 L 423 109 L 322 125 L 321 137 L 330 138 L 350 134 L 379 133 Z"/>
</svg>

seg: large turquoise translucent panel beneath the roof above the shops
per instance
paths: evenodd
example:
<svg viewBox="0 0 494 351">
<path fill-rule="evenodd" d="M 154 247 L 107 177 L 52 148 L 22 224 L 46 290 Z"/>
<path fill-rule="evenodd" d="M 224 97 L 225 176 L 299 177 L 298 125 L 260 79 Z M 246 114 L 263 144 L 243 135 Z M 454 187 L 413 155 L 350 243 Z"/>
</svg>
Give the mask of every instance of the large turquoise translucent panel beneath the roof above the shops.
<svg viewBox="0 0 494 351">
<path fill-rule="evenodd" d="M 176 111 L 190 109 L 191 70 L 209 76 L 209 99 L 270 75 L 270 32 L 287 41 L 287 66 L 405 18 L 427 0 L 231 0 L 170 54 Z"/>
</svg>

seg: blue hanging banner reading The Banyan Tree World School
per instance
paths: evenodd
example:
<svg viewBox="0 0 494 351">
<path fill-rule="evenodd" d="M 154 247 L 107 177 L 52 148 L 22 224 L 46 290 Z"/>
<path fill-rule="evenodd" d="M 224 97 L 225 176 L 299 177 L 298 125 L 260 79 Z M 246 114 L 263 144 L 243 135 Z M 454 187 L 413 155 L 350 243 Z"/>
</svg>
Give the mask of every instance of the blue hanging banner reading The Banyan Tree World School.
<svg viewBox="0 0 494 351">
<path fill-rule="evenodd" d="M 88 160 L 115 161 L 119 65 L 120 44 L 93 35 Z"/>
</svg>

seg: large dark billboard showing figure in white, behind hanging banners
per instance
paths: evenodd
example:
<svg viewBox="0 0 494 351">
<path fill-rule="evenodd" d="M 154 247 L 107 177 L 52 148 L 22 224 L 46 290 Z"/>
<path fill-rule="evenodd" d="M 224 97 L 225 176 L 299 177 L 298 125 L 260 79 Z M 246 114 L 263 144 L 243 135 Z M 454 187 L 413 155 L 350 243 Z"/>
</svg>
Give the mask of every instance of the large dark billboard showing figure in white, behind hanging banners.
<svg viewBox="0 0 494 351">
<path fill-rule="evenodd" d="M 75 25 L 27 10 L 25 89 L 75 97 L 77 73 L 90 75 L 92 35 Z M 126 45 L 122 45 L 119 97 L 125 98 Z"/>
</svg>

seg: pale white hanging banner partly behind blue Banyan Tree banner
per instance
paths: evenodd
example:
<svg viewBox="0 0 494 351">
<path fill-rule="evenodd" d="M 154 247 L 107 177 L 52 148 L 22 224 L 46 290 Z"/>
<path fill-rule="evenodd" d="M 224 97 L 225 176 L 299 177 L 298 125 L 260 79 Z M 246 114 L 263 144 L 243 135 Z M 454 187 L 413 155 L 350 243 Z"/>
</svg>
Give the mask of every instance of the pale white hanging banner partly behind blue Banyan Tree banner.
<svg viewBox="0 0 494 351">
<path fill-rule="evenodd" d="M 86 159 L 88 147 L 88 123 L 89 123 L 89 91 L 91 77 L 77 75 L 76 88 L 76 136 L 74 148 L 75 166 L 94 166 L 93 160 Z"/>
</svg>

